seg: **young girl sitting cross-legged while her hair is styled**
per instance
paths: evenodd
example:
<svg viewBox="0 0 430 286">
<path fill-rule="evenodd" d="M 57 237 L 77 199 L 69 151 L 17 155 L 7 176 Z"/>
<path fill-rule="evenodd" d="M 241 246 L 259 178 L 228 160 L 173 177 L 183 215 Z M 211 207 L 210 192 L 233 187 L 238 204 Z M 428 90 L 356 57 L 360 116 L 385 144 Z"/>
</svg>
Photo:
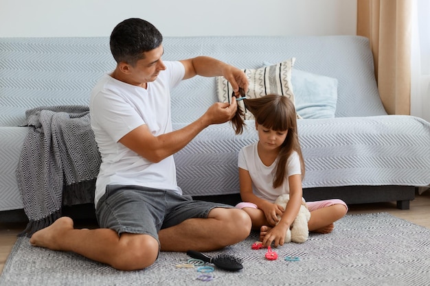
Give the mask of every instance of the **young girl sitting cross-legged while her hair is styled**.
<svg viewBox="0 0 430 286">
<path fill-rule="evenodd" d="M 246 211 L 253 229 L 260 228 L 263 246 L 282 246 L 286 229 L 291 227 L 302 203 L 304 160 L 297 136 L 297 115 L 290 99 L 265 95 L 243 99 L 255 117 L 258 141 L 245 146 L 238 156 L 240 196 L 236 205 Z M 239 116 L 240 115 L 240 116 Z M 232 121 L 236 133 L 245 124 L 243 110 Z M 290 200 L 283 209 L 274 204 L 279 195 L 288 193 Z M 317 233 L 330 233 L 334 222 L 343 217 L 348 206 L 342 200 L 306 202 L 310 211 L 308 228 Z M 278 219 L 280 215 L 281 219 Z"/>
</svg>

